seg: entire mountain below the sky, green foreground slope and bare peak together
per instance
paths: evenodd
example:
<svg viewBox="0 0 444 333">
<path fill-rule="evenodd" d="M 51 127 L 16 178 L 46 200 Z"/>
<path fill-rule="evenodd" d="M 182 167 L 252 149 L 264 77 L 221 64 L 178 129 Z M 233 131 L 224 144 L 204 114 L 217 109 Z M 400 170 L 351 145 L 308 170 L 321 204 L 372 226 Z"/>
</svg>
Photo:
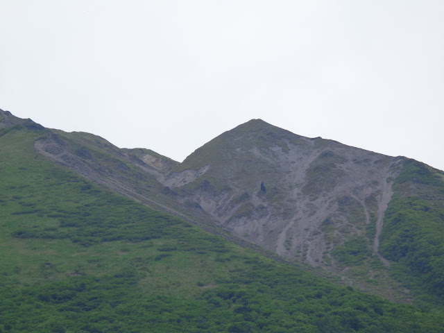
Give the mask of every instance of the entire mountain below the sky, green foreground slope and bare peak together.
<svg viewBox="0 0 444 333">
<path fill-rule="evenodd" d="M 253 120 L 178 163 L 0 110 L 0 175 L 2 331 L 443 331 L 420 162 Z"/>
</svg>

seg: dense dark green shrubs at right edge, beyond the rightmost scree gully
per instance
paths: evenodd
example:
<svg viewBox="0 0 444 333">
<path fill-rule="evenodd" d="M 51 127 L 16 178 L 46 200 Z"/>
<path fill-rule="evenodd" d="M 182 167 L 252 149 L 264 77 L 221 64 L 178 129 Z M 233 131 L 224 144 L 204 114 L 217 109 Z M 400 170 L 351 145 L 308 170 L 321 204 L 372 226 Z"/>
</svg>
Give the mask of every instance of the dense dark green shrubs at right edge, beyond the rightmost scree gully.
<svg viewBox="0 0 444 333">
<path fill-rule="evenodd" d="M 442 171 L 406 160 L 394 183 L 380 252 L 396 262 L 393 273 L 411 288 L 444 296 L 444 181 Z"/>
</svg>

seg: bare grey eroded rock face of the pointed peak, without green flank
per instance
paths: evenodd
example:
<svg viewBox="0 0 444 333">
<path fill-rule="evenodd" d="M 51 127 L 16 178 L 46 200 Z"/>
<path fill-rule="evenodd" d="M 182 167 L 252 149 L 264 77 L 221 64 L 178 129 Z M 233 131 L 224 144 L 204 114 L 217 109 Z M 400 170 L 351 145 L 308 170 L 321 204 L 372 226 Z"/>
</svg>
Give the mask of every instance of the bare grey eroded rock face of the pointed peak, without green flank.
<svg viewBox="0 0 444 333">
<path fill-rule="evenodd" d="M 370 223 L 377 253 L 402 160 L 253 120 L 187 157 L 169 187 L 239 237 L 324 266 L 334 246 L 365 234 Z"/>
</svg>

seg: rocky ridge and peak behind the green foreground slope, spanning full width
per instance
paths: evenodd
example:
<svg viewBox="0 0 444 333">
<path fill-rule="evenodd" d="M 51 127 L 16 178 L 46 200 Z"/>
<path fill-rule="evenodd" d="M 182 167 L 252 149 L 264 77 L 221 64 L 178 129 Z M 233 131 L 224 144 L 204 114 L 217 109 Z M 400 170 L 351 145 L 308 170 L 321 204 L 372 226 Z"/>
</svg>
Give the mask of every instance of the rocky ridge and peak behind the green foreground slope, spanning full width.
<svg viewBox="0 0 444 333">
<path fill-rule="evenodd" d="M 36 156 L 101 187 L 384 298 L 423 308 L 443 302 L 443 171 L 301 137 L 260 119 L 179 163 L 0 113 L 2 136 L 40 131 Z"/>
</svg>

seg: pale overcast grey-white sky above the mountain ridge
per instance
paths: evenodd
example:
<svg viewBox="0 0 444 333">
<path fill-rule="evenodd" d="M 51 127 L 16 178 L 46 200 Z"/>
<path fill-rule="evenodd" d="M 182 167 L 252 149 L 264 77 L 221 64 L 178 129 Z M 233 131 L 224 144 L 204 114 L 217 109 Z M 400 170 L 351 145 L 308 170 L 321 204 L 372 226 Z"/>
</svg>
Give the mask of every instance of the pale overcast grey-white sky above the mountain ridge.
<svg viewBox="0 0 444 333">
<path fill-rule="evenodd" d="M 0 108 L 182 161 L 253 118 L 444 169 L 444 1 L 0 0 Z"/>
</svg>

